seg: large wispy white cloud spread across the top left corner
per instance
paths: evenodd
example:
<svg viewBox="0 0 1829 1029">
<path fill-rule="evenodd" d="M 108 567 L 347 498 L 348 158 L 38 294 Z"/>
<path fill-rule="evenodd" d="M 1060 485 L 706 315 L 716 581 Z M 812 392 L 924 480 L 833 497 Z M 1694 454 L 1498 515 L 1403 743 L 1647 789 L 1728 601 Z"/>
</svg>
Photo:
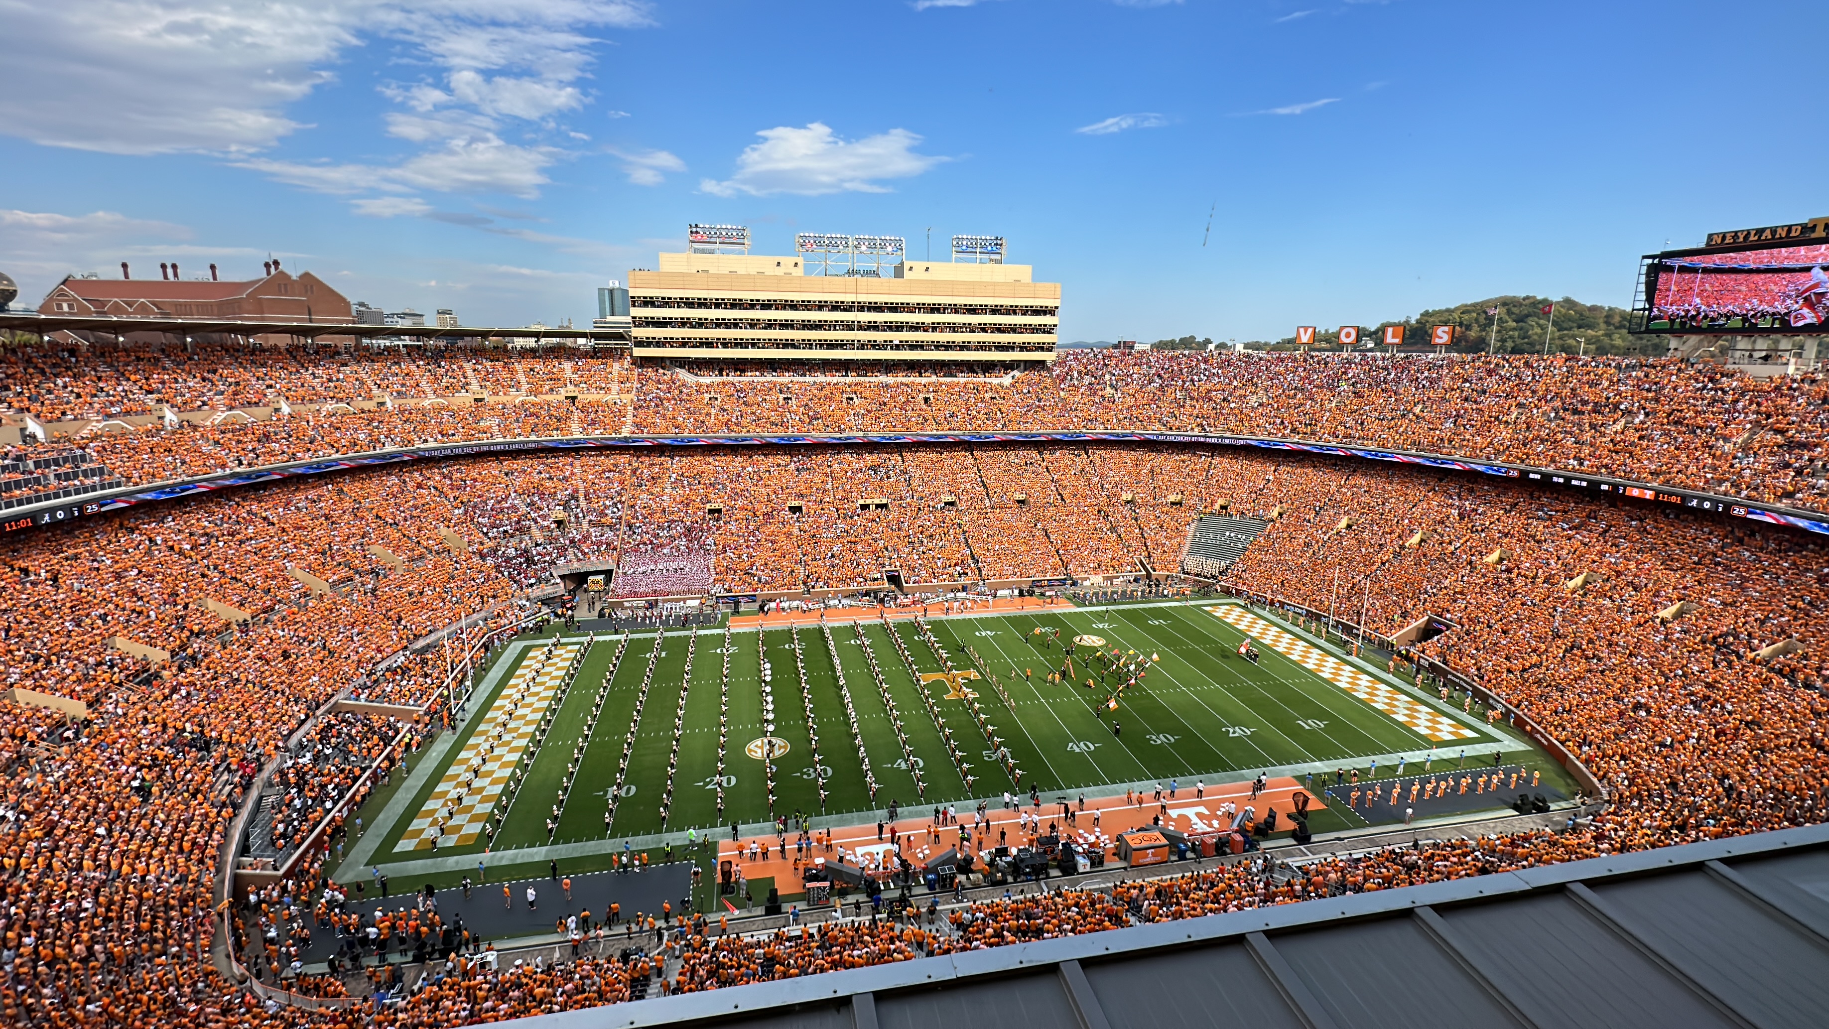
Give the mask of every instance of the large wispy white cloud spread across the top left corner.
<svg viewBox="0 0 1829 1029">
<path fill-rule="evenodd" d="M 110 154 L 209 152 L 324 192 L 412 185 L 532 196 L 554 155 L 545 133 L 591 102 L 582 80 L 598 27 L 651 24 L 640 0 L 0 0 L 0 133 Z M 430 68 L 382 95 L 395 139 L 384 166 L 252 159 L 304 128 L 287 108 L 369 42 Z M 375 55 L 384 58 L 384 55 Z M 532 137 L 503 143 L 514 124 Z M 437 161 L 454 161 L 448 170 Z M 390 185 L 391 183 L 391 185 Z"/>
</svg>

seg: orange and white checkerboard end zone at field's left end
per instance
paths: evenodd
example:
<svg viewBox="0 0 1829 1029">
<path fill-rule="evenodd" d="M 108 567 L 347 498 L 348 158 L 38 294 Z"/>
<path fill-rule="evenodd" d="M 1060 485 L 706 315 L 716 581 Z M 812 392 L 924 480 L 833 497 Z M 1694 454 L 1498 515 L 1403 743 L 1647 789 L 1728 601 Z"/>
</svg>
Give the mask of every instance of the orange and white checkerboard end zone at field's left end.
<svg viewBox="0 0 1829 1029">
<path fill-rule="evenodd" d="M 580 651 L 583 647 L 576 643 L 560 645 L 551 652 L 540 649 L 514 669 L 514 676 L 496 695 L 496 704 L 444 769 L 444 779 L 426 797 L 426 804 L 401 833 L 401 843 L 393 844 L 393 850 L 430 848 L 437 835 L 433 826 L 441 819 L 444 821 L 441 846 L 476 843 Z M 465 786 L 472 771 L 476 779 Z"/>
</svg>

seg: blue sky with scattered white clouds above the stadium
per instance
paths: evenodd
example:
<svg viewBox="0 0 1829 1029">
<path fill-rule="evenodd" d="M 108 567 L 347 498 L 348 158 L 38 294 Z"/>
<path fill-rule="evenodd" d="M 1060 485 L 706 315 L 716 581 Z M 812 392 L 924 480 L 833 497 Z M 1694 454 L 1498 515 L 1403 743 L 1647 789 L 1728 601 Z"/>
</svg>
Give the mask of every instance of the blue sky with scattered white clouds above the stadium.
<svg viewBox="0 0 1829 1029">
<path fill-rule="evenodd" d="M 1829 214 L 1822 4 L 0 0 L 0 271 L 585 322 L 688 221 L 1000 234 L 1063 338 L 1277 338 Z M 1802 49 L 1807 49 L 1803 46 Z M 1207 221 L 1211 216 L 1211 234 Z M 1205 241 L 1205 245 L 1203 245 Z"/>
</svg>

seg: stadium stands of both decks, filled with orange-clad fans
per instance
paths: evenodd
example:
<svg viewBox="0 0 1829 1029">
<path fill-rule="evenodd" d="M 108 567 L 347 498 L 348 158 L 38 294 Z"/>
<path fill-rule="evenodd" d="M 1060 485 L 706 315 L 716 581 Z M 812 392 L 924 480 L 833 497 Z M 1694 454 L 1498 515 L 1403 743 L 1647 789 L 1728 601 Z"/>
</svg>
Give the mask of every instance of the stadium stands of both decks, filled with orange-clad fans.
<svg viewBox="0 0 1829 1029">
<path fill-rule="evenodd" d="M 104 387 L 99 373 L 91 382 L 51 355 L 7 360 L 38 377 L 42 391 L 24 397 L 46 413 L 124 409 L 165 395 L 241 400 L 265 375 L 247 364 L 243 378 L 205 387 L 210 362 L 229 358 L 135 358 Z M 311 378 L 311 362 L 287 360 L 282 369 Z M 485 367 L 492 382 L 571 382 L 571 371 L 541 360 L 558 358 Z M 351 362 L 351 375 L 360 371 L 364 387 L 424 391 L 428 364 Z M 651 384 L 649 373 L 642 382 Z M 1666 364 L 1136 355 L 1066 358 L 1052 375 L 1010 386 L 794 386 L 792 402 L 770 380 L 655 382 L 636 428 L 1251 424 L 1822 499 L 1820 382 L 1745 382 Z M 620 406 L 602 408 L 589 424 L 620 431 Z M 472 419 L 492 409 L 488 417 L 507 420 Z M 567 400 L 430 411 L 443 413 L 293 415 L 82 442 L 117 473 L 159 475 L 212 466 L 230 451 L 274 461 L 388 433 L 574 431 L 578 420 Z M 521 411 L 519 420 L 508 411 Z M 130 453 L 137 457 L 115 464 Z M 688 539 L 693 554 L 710 554 L 710 579 L 737 592 L 867 585 L 883 568 L 907 581 L 1052 578 L 1132 570 L 1138 557 L 1172 565 L 1191 519 L 1222 499 L 1235 515 L 1267 521 L 1233 583 L 1326 607 L 1341 567 L 1355 587 L 1372 576 L 1366 607 L 1377 631 L 1425 610 L 1454 618 L 1461 629 L 1425 651 L 1575 748 L 1613 790 L 1613 808 L 1567 833 L 1321 861 L 1286 881 L 1238 865 L 1099 896 L 973 905 L 940 927 L 783 932 L 744 949 L 688 934 L 684 960 L 657 985 L 713 989 L 1822 821 L 1829 561 L 1820 543 L 1785 530 L 1483 477 L 1229 448 L 466 459 L 216 493 L 0 543 L 0 676 L 91 711 L 71 724 L 0 705 L 0 936 L 15 956 L 0 1014 L 46 1025 L 71 1024 L 75 1011 L 126 1025 L 448 1025 L 640 996 L 651 965 L 591 958 L 538 971 L 463 963 L 397 1003 L 265 1011 L 207 956 L 219 927 L 210 892 L 218 855 L 234 812 L 251 801 L 243 769 L 291 753 L 282 801 L 256 826 L 282 857 L 322 799 L 379 760 L 391 722 L 337 715 L 298 749 L 287 751 L 287 738 L 358 680 L 364 698 L 437 704 L 441 667 L 428 658 L 386 673 L 375 665 L 468 612 L 512 610 L 554 559 Z M 554 510 L 567 512 L 563 526 Z M 1342 530 L 1344 517 L 1352 526 Z M 1496 550 L 1502 561 L 1481 559 Z M 1571 589 L 1582 572 L 1591 572 L 1588 583 Z M 1692 610 L 1659 618 L 1681 601 Z M 1802 649 L 1758 656 L 1792 638 Z M 154 663 L 148 649 L 166 656 Z M 309 903 L 320 897 L 327 857 L 318 843 L 293 874 Z M 260 919 L 276 918 L 280 905 L 280 886 L 230 905 L 236 950 L 262 956 L 269 971 L 285 954 L 258 943 Z M 294 985 L 326 996 L 346 989 L 335 978 Z"/>
</svg>

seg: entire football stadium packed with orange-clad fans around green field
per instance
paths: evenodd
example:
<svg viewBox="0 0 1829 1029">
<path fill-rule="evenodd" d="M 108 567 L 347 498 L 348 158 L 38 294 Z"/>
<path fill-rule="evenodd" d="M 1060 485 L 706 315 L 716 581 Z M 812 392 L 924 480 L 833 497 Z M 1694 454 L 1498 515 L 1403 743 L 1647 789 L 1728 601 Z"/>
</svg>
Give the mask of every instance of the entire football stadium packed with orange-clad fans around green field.
<svg viewBox="0 0 1829 1029">
<path fill-rule="evenodd" d="M 1813 1022 L 1824 232 L 1644 258 L 1657 360 L 1055 349 L 993 236 L 695 225 L 534 340 L 64 280 L 0 314 L 7 1018 L 1414 1020 L 1344 943 Z"/>
</svg>

